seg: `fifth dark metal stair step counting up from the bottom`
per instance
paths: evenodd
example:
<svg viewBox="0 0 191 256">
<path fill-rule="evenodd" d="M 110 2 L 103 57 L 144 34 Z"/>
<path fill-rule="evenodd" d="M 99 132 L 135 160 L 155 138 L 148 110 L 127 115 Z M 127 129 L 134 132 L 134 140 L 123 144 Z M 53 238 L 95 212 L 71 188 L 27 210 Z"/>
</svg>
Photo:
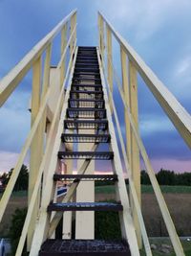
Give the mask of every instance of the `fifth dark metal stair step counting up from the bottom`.
<svg viewBox="0 0 191 256">
<path fill-rule="evenodd" d="M 111 140 L 110 134 L 67 134 L 61 136 L 64 143 L 109 143 Z"/>
</svg>

